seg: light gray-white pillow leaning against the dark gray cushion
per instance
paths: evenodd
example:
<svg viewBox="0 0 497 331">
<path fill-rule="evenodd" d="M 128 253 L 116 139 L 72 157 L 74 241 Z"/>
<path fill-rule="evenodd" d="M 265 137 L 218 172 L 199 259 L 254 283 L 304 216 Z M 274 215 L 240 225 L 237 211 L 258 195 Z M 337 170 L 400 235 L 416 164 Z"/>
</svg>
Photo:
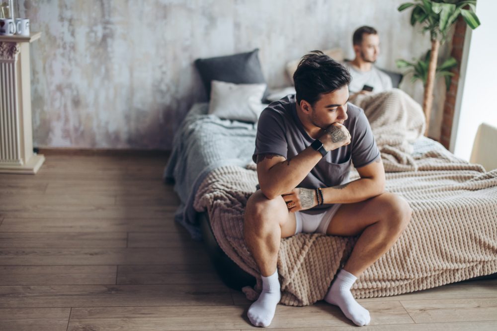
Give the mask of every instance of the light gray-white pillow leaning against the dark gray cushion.
<svg viewBox="0 0 497 331">
<path fill-rule="evenodd" d="M 234 84 L 213 80 L 209 114 L 222 119 L 257 122 L 265 108 L 260 102 L 266 84 Z"/>
</svg>

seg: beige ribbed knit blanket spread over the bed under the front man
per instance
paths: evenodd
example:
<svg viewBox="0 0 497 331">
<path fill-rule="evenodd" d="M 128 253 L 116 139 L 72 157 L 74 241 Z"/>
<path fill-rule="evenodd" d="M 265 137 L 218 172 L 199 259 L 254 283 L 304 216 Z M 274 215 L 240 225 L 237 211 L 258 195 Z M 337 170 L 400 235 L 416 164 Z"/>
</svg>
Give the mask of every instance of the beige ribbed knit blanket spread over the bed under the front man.
<svg viewBox="0 0 497 331">
<path fill-rule="evenodd" d="M 405 98 L 399 95 L 402 93 L 395 92 L 382 98 Z M 375 109 L 370 107 L 365 112 L 385 118 L 377 113 L 391 111 L 388 107 Z M 397 109 L 398 116 L 385 120 L 385 125 L 397 121 L 398 127 L 389 132 L 376 133 L 381 126 L 370 120 L 378 144 L 389 146 L 382 145 L 388 140 L 394 145 L 391 149 L 380 147 L 383 157 L 392 156 L 384 162 L 394 167 L 395 160 L 400 160 L 397 164 L 408 170 L 400 172 L 396 168 L 397 172 L 387 173 L 386 189 L 410 202 L 413 218 L 396 244 L 356 281 L 352 288 L 356 298 L 396 295 L 497 272 L 497 170 L 485 172 L 483 167 L 461 161 L 441 147 L 422 155 L 410 154 L 405 150 L 410 146 L 401 140 L 416 134 L 406 132 L 404 138 L 395 138 L 393 131 L 403 129 L 399 129 L 399 119 L 411 126 L 407 119 L 412 115 L 402 114 L 411 109 Z M 404 154 L 409 154 L 408 162 L 404 162 Z M 351 177 L 357 177 L 357 173 L 354 171 Z M 197 211 L 208 212 L 223 251 L 256 277 L 255 289 L 244 289 L 252 300 L 260 291 L 260 277 L 244 241 L 243 214 L 256 184 L 253 164 L 248 169 L 221 167 L 205 178 L 194 202 Z M 303 306 L 323 299 L 356 239 L 321 234 L 282 239 L 278 255 L 281 303 Z"/>
</svg>

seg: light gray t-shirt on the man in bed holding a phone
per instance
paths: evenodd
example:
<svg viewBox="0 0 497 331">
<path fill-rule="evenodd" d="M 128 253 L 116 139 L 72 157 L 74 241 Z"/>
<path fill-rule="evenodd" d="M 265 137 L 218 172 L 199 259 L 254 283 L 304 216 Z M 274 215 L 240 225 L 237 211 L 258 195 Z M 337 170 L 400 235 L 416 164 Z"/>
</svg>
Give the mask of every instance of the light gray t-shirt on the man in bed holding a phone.
<svg viewBox="0 0 497 331">
<path fill-rule="evenodd" d="M 352 81 L 348 85 L 350 93 L 360 92 L 364 85 L 373 86 L 373 93 L 385 92 L 393 88 L 390 76 L 376 66 L 372 66 L 369 71 L 357 70 L 348 61 L 344 62 L 343 66 L 348 69 L 352 76 Z"/>
</svg>

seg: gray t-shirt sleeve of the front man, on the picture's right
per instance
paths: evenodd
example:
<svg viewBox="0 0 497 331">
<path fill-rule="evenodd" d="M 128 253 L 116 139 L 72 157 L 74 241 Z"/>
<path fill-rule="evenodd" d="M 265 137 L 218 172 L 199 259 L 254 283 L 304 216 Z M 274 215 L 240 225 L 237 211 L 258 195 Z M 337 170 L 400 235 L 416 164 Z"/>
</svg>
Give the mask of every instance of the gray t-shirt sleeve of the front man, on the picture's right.
<svg viewBox="0 0 497 331">
<path fill-rule="evenodd" d="M 355 125 L 352 140 L 352 162 L 355 168 L 364 167 L 380 156 L 373 132 L 364 111 L 361 109 Z"/>
</svg>

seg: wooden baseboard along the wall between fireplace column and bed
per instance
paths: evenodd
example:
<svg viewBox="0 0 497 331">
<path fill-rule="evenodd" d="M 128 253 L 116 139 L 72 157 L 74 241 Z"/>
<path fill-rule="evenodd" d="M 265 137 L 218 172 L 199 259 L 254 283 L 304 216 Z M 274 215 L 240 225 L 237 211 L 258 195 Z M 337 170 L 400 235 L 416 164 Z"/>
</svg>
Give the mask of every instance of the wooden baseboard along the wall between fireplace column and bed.
<svg viewBox="0 0 497 331">
<path fill-rule="evenodd" d="M 71 148 L 52 147 L 34 148 L 34 151 L 44 155 L 86 155 L 86 156 L 161 156 L 168 157 L 170 150 L 159 149 L 112 149 L 112 148 Z"/>
</svg>

